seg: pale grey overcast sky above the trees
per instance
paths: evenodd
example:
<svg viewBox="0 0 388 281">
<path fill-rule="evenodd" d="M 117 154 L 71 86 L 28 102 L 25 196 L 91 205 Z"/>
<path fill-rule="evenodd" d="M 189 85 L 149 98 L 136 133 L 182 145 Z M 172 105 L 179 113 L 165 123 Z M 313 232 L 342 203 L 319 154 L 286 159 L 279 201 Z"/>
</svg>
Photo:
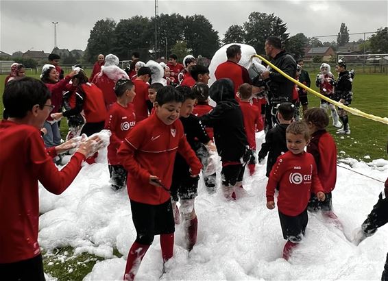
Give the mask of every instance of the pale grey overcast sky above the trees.
<svg viewBox="0 0 388 281">
<path fill-rule="evenodd" d="M 345 23 L 350 34 L 375 32 L 388 25 L 388 1 L 168 1 L 159 0 L 159 14 L 182 16 L 203 14 L 223 38 L 230 25 L 241 25 L 251 12 L 274 13 L 287 23 L 290 36 L 304 33 L 307 37 L 337 34 Z M 86 48 L 90 30 L 96 21 L 115 21 L 134 15 L 154 16 L 154 0 L 143 1 L 19 1 L 0 0 L 0 50 L 44 50 L 54 45 L 57 22 L 59 48 Z M 370 36 L 371 34 L 366 34 Z M 350 40 L 363 34 L 350 36 Z M 335 37 L 320 38 L 323 41 Z"/>
</svg>

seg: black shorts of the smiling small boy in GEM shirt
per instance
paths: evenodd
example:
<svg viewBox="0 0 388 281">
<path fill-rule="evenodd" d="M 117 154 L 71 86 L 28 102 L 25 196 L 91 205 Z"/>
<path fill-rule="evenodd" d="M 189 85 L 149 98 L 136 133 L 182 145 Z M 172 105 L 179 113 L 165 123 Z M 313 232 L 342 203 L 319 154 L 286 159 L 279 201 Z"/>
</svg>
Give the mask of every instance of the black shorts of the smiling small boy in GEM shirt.
<svg viewBox="0 0 388 281">
<path fill-rule="evenodd" d="M 302 240 L 308 223 L 307 208 L 300 215 L 291 217 L 279 211 L 280 225 L 282 225 L 283 238 L 293 243 Z"/>
</svg>

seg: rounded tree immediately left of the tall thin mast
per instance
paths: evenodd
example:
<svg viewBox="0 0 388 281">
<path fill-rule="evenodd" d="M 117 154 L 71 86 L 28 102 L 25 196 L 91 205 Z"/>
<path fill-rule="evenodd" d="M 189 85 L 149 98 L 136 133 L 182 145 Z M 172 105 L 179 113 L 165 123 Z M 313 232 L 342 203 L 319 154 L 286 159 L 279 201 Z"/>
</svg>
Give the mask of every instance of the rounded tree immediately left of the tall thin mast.
<svg viewBox="0 0 388 281">
<path fill-rule="evenodd" d="M 131 60 L 132 52 L 139 51 L 142 60 L 149 58 L 149 49 L 154 46 L 154 26 L 144 16 L 122 19 L 114 29 L 112 52 L 120 60 Z"/>
</svg>

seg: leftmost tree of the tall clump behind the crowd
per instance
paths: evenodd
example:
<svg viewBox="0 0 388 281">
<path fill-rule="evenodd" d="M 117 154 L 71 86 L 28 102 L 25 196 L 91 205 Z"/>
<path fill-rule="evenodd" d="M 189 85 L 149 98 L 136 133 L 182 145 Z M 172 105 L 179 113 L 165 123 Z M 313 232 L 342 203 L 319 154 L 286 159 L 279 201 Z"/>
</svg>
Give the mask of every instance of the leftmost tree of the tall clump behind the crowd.
<svg viewBox="0 0 388 281">
<path fill-rule="evenodd" d="M 86 46 L 86 62 L 93 63 L 100 53 L 107 55 L 114 46 L 114 29 L 116 22 L 112 19 L 101 19 L 95 23 L 90 31 L 88 45 Z"/>
</svg>

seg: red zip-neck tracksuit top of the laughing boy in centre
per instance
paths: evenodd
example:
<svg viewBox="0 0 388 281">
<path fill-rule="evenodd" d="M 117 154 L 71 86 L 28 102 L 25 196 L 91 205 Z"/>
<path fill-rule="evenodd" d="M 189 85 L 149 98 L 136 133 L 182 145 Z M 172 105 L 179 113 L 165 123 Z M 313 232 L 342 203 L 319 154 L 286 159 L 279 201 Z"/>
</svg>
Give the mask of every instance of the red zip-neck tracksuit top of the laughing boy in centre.
<svg viewBox="0 0 388 281">
<path fill-rule="evenodd" d="M 128 195 L 131 200 L 160 205 L 170 199 L 170 193 L 149 184 L 149 175 L 156 175 L 167 188 L 171 186 L 175 154 L 179 152 L 191 167 L 192 174 L 202 169 L 193 149 L 184 136 L 182 122 L 163 123 L 157 114 L 137 123 L 119 148 L 119 157 L 128 171 Z"/>
</svg>

